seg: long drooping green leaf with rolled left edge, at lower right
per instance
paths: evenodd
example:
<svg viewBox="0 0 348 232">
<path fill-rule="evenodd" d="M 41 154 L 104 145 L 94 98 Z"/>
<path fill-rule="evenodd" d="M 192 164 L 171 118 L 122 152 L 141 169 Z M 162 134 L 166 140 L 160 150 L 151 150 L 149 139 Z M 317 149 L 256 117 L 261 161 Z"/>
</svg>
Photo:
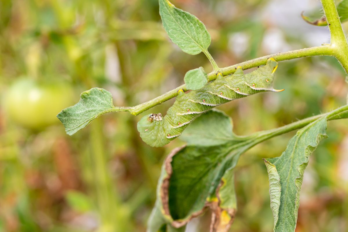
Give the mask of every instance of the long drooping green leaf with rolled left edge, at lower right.
<svg viewBox="0 0 348 232">
<path fill-rule="evenodd" d="M 300 129 L 280 157 L 266 159 L 274 231 L 295 231 L 304 169 L 318 143 L 326 138 L 326 117 Z"/>
</svg>

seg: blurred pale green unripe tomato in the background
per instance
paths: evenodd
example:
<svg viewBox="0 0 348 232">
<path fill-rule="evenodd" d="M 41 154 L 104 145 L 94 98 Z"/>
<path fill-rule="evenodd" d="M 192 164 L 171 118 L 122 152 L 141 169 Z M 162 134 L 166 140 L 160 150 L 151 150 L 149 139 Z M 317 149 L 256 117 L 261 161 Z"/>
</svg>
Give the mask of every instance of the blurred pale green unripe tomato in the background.
<svg viewBox="0 0 348 232">
<path fill-rule="evenodd" d="M 56 115 L 73 102 L 72 88 L 65 82 L 20 79 L 8 89 L 5 112 L 10 121 L 39 130 L 59 122 Z"/>
</svg>

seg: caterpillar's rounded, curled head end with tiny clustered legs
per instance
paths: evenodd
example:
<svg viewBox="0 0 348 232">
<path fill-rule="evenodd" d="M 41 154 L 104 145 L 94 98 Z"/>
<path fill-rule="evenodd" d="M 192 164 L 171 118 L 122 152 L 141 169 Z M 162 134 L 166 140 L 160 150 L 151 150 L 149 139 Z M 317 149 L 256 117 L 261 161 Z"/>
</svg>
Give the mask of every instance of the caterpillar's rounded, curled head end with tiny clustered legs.
<svg viewBox="0 0 348 232">
<path fill-rule="evenodd" d="M 161 113 L 148 114 L 140 119 L 137 129 L 140 132 L 140 137 L 145 143 L 153 147 L 160 147 L 172 140 L 166 138 L 163 122 Z"/>
</svg>

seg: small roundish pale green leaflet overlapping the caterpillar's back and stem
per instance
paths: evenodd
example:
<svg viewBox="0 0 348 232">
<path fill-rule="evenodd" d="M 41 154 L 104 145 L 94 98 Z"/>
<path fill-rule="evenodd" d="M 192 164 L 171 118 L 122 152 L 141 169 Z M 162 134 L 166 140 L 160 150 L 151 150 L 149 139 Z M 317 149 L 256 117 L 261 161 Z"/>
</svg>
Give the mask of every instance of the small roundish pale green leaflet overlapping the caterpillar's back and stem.
<svg viewBox="0 0 348 232">
<path fill-rule="evenodd" d="M 187 89 L 197 90 L 208 83 L 208 74 L 204 72 L 203 67 L 192 69 L 185 74 L 184 81 Z"/>
</svg>

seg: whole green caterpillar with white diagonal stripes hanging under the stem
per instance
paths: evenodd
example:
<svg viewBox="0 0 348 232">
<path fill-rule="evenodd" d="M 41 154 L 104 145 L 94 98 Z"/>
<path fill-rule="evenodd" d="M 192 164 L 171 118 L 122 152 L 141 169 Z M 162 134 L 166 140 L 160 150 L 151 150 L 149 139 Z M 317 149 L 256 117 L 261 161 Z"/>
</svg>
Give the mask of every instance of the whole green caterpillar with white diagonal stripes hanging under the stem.
<svg viewBox="0 0 348 232">
<path fill-rule="evenodd" d="M 144 116 L 137 125 L 140 137 L 150 146 L 160 147 L 168 144 L 181 135 L 182 131 L 201 114 L 215 106 L 252 94 L 273 91 L 274 73 L 278 63 L 273 58 L 259 69 L 245 74 L 238 67 L 234 74 L 223 77 L 218 74 L 216 80 L 199 90 L 185 94 L 182 90 L 167 115 L 162 118 L 160 113 Z"/>
</svg>

